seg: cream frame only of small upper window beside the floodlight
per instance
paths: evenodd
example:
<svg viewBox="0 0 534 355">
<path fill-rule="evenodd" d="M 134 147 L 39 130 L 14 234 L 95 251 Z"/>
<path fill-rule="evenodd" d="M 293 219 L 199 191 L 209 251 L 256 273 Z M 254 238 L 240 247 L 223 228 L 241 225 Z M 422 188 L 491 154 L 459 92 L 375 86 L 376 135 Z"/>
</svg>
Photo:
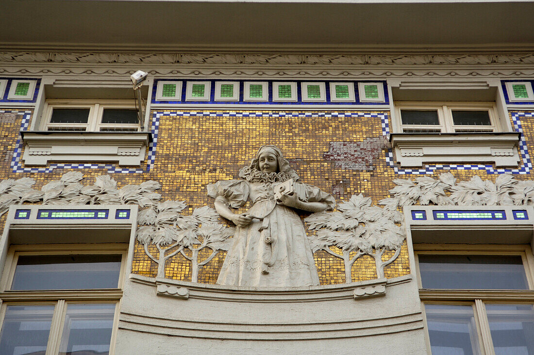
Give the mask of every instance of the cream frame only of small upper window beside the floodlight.
<svg viewBox="0 0 534 355">
<path fill-rule="evenodd" d="M 48 99 L 45 101 L 43 107 L 43 114 L 41 116 L 40 130 L 54 132 L 53 130 L 49 131 L 49 128 L 85 128 L 84 131 L 75 130 L 73 132 L 106 132 L 101 131 L 102 128 L 125 128 L 125 129 L 136 129 L 135 132 L 142 131 L 140 123 L 132 124 L 109 124 L 102 123 L 102 116 L 104 109 L 133 109 L 135 110 L 135 104 L 131 102 L 132 100 L 89 100 L 89 99 Z M 89 117 L 87 123 L 51 123 L 52 112 L 54 108 L 89 108 Z M 128 130 L 129 131 L 129 130 Z M 112 132 L 122 133 L 128 131 L 116 130 Z M 56 131 L 57 132 L 57 131 Z"/>
</svg>

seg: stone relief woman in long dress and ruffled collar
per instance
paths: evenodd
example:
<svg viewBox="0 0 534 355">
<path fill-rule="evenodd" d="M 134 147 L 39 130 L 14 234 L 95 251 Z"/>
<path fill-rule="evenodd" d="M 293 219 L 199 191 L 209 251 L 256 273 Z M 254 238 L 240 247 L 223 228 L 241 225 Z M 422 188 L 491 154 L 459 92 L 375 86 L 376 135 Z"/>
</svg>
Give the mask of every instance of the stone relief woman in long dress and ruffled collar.
<svg viewBox="0 0 534 355">
<path fill-rule="evenodd" d="M 295 210 L 332 209 L 332 195 L 301 183 L 275 146 L 263 146 L 239 180 L 208 185 L 215 209 L 237 228 L 217 283 L 232 286 L 319 285 L 302 220 Z M 248 200 L 252 207 L 235 214 Z"/>
</svg>

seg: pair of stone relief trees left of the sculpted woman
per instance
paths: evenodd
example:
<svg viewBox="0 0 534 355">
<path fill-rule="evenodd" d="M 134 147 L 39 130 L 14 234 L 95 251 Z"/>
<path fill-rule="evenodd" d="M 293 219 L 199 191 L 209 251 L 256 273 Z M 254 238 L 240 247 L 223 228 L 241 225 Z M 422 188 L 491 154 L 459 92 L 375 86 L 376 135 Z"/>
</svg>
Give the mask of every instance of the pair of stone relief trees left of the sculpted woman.
<svg viewBox="0 0 534 355">
<path fill-rule="evenodd" d="M 137 230 L 137 240 L 143 244 L 146 255 L 158 264 L 158 277 L 165 277 L 166 261 L 181 253 L 191 261 L 191 280 L 197 282 L 201 267 L 219 250 L 227 250 L 227 238 L 233 235 L 233 229 L 217 223 L 218 215 L 213 208 L 200 207 L 194 209 L 190 216 L 181 215 L 186 207 L 184 201 L 164 201 L 140 211 L 139 224 L 142 226 Z M 148 249 L 150 244 L 158 249 L 158 258 Z M 213 251 L 199 263 L 198 253 L 206 247 Z M 191 257 L 187 256 L 185 249 L 191 251 Z"/>
</svg>

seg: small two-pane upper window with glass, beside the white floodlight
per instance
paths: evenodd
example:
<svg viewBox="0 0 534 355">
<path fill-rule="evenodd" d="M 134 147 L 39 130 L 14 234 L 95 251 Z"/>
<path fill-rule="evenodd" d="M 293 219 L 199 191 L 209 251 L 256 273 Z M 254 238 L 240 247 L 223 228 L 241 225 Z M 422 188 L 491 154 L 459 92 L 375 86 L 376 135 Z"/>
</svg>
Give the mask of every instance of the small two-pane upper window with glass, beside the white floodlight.
<svg viewBox="0 0 534 355">
<path fill-rule="evenodd" d="M 48 100 L 42 129 L 46 131 L 139 131 L 132 100 Z"/>
</svg>

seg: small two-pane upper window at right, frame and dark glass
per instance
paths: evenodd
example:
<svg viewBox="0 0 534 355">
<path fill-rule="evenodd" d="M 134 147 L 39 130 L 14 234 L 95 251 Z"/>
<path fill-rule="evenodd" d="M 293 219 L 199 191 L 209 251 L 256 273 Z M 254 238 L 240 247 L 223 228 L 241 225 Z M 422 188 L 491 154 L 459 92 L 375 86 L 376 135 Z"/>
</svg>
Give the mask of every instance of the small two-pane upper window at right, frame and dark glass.
<svg viewBox="0 0 534 355">
<path fill-rule="evenodd" d="M 494 102 L 396 102 L 399 131 L 452 133 L 500 131 Z"/>
</svg>

